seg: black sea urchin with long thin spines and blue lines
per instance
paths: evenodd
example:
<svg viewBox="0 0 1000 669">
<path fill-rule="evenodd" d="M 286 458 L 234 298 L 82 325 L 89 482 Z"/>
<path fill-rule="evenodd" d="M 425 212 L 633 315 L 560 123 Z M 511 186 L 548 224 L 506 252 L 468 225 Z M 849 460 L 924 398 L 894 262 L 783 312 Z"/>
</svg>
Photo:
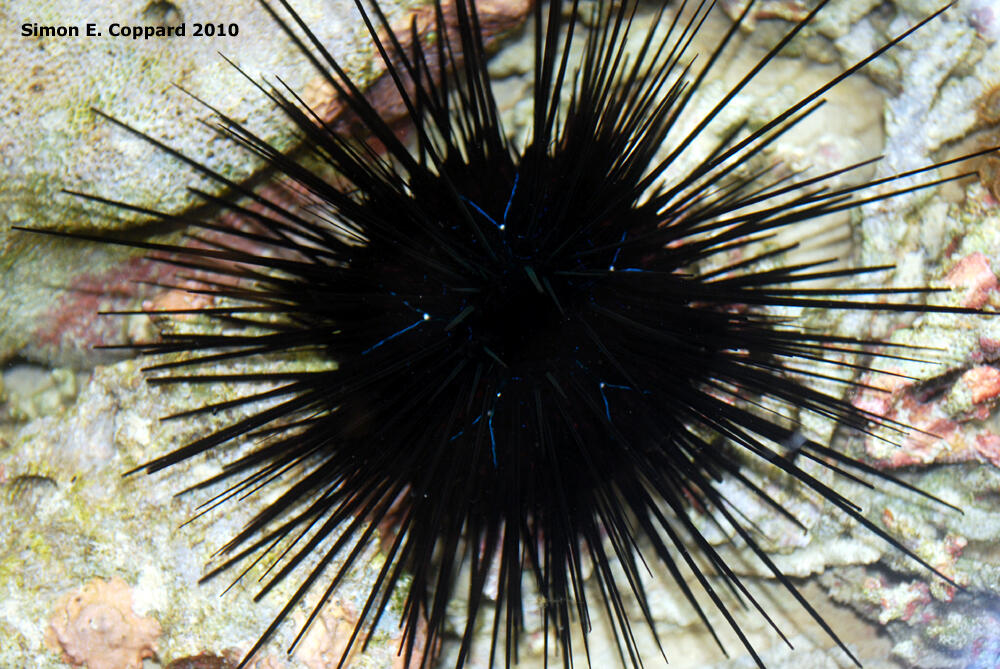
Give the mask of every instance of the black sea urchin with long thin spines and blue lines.
<svg viewBox="0 0 1000 669">
<path fill-rule="evenodd" d="M 481 619 L 492 621 L 490 662 L 499 656 L 509 665 L 527 572 L 543 601 L 546 643 L 555 640 L 564 666 L 572 662 L 573 629 L 586 631 L 594 606 L 612 621 L 622 664 L 639 666 L 626 601 L 634 598 L 653 626 L 640 571 L 655 558 L 706 625 L 705 596 L 763 666 L 728 610 L 730 595 L 708 574 L 767 614 L 689 518 L 694 505 L 730 524 L 851 655 L 760 548 L 757 529 L 719 483 L 736 481 L 798 522 L 742 465 L 783 472 L 934 571 L 800 463 L 852 481 L 860 474 L 906 484 L 810 440 L 783 415 L 804 410 L 857 430 L 904 429 L 817 385 L 836 382 L 829 370 L 850 366 L 853 354 L 890 356 L 871 352 L 876 341 L 805 329 L 791 311 L 775 308 L 971 310 L 900 301 L 930 288 L 817 287 L 820 279 L 892 266 L 782 264 L 794 244 L 775 237 L 965 175 L 892 190 L 896 180 L 943 163 L 852 187 L 831 182 L 862 164 L 808 178 L 738 168 L 821 106 L 831 87 L 926 21 L 770 122 L 728 132 L 679 173 L 678 157 L 826 0 L 693 123 L 692 96 L 740 21 L 699 60 L 690 44 L 709 0 L 685 2 L 673 18 L 661 8 L 629 53 L 636 3 L 597 2 L 586 12 L 586 29 L 576 1 L 536 5 L 534 107 L 524 146 L 502 127 L 472 0 L 435 0 L 436 38 L 424 47 L 413 39 L 410 48 L 377 3 L 358 0 L 407 110 L 412 146 L 294 9 L 279 3 L 280 14 L 262 5 L 370 135 L 339 134 L 282 86 L 260 89 L 301 135 L 305 155 L 283 155 L 218 114 L 220 132 L 297 186 L 294 203 L 268 199 L 110 119 L 231 189 L 228 200 L 199 194 L 242 221 L 148 211 L 186 226 L 199 243 L 120 243 L 196 273 L 199 292 L 220 302 L 194 310 L 217 332 L 175 332 L 139 347 L 146 355 L 182 354 L 149 367 L 160 373 L 151 383 L 272 384 L 185 412 L 197 417 L 266 401 L 141 468 L 159 471 L 255 439 L 206 482 L 228 482 L 213 503 L 265 486 L 282 493 L 224 548 L 225 561 L 209 576 L 273 558 L 263 596 L 307 557 L 321 557 L 250 654 L 308 591 L 328 598 L 392 514 L 384 566 L 351 645 L 401 590 L 406 663 L 426 643 L 420 665 L 429 664 L 465 568 L 468 608 L 456 666 L 466 663 Z M 415 37 L 415 25 L 412 31 Z M 325 168 L 338 176 L 324 176 Z M 714 269 L 704 269 L 708 264 Z M 282 356 L 302 352 L 336 364 L 282 367 Z M 241 359 L 274 362 L 268 371 L 199 369 Z M 596 601 L 583 583 L 590 567 Z M 497 583 L 495 598 L 484 595 L 489 580 Z"/>
</svg>

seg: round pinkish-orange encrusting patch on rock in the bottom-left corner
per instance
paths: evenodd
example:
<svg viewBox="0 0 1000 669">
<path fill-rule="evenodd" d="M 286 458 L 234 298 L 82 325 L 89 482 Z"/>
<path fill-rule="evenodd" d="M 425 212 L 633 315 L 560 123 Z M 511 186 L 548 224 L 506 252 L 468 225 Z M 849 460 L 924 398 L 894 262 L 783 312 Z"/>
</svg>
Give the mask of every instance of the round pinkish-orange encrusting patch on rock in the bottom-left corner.
<svg viewBox="0 0 1000 669">
<path fill-rule="evenodd" d="M 49 618 L 46 643 L 65 662 L 87 669 L 140 669 L 156 651 L 160 624 L 132 611 L 132 589 L 115 577 L 94 579 L 63 596 Z"/>
</svg>

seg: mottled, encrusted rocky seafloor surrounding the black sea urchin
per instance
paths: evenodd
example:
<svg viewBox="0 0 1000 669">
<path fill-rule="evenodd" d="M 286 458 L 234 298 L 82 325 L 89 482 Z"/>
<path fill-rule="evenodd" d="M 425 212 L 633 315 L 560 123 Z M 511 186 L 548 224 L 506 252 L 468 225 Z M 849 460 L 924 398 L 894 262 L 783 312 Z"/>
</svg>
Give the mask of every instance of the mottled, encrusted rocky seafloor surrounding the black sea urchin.
<svg viewBox="0 0 1000 669">
<path fill-rule="evenodd" d="M 330 0 L 334 3 L 334 0 Z M 339 3 L 339 4 L 337 4 Z M 365 81 L 379 66 L 359 19 L 318 2 L 296 2 L 314 27 L 328 35 L 335 53 Z M 386 4 L 386 3 L 383 3 Z M 404 16 L 404 4 L 393 16 Z M 489 3 L 500 17 L 493 30 L 509 32 L 525 2 Z M 587 3 L 584 3 L 585 5 Z M 654 3 L 646 3 L 648 17 Z M 194 155 L 207 153 L 235 178 L 253 165 L 219 146 L 196 123 L 203 109 L 170 90 L 181 83 L 227 113 L 263 124 L 268 137 L 282 140 L 249 83 L 220 64 L 220 50 L 253 75 L 280 74 L 293 86 L 315 89 L 304 64 L 288 44 L 271 39 L 266 16 L 252 2 L 232 3 L 227 21 L 238 21 L 259 41 L 182 46 L 72 39 L 22 38 L 23 21 L 83 23 L 134 18 L 144 22 L 220 20 L 201 2 L 113 2 L 87 15 L 75 3 L 11 0 L 4 17 L 3 113 L 0 147 L 5 169 L 0 186 L 0 356 L 6 361 L 0 385 L 0 668 L 86 666 L 234 666 L 267 626 L 290 593 L 282 586 L 263 601 L 251 601 L 263 567 L 252 569 L 220 597 L 227 576 L 199 585 L 213 553 L 253 514 L 257 504 L 229 504 L 178 529 L 207 496 L 175 493 L 210 476 L 231 454 L 185 463 L 154 476 L 121 473 L 234 417 L 220 412 L 199 422 L 161 422 L 158 417 L 235 396 L 236 388 L 151 387 L 142 361 L 115 359 L 95 344 L 138 341 L 158 324 L 147 316 L 98 318 L 98 309 L 136 305 L 192 305 L 179 293 L 129 292 L 134 279 L 155 279 L 129 254 L 110 247 L 39 239 L 12 225 L 69 229 L 139 229 L 141 220 L 110 220 L 61 196 L 62 187 L 97 192 L 146 206 L 183 209 L 190 172 L 151 151 L 87 112 L 98 106 L 166 137 Z M 702 50 L 713 44 L 739 12 L 720 2 L 702 28 Z M 732 124 L 759 126 L 802 95 L 835 76 L 919 18 L 937 9 L 933 1 L 834 0 L 803 36 L 725 110 L 717 137 Z M 711 108 L 775 42 L 789 20 L 801 16 L 793 0 L 766 0 L 753 21 L 720 61 L 689 119 Z M 100 12 L 101 16 L 96 14 Z M 175 12 L 175 13 L 171 13 Z M 180 17 L 180 18 L 179 18 Z M 864 75 L 831 92 L 828 104 L 803 127 L 777 142 L 766 160 L 793 169 L 833 169 L 884 154 L 864 174 L 877 178 L 919 167 L 991 144 L 1000 144 L 1000 4 L 961 0 Z M 282 51 L 284 49 L 285 51 Z M 511 132 L 530 111 L 530 48 L 527 35 L 506 40 L 491 62 L 498 97 Z M 313 90 L 322 99 L 323 92 Z M 318 98 L 316 96 L 319 96 Z M 153 100 L 154 102 L 151 102 Z M 322 104 L 334 105 L 326 100 Z M 258 105 L 255 107 L 254 105 Z M 520 130 L 523 132 L 523 130 Z M 700 142 L 704 149 L 711 138 Z M 287 138 L 286 140 L 287 141 Z M 699 146 L 692 149 L 697 154 Z M 750 169 L 748 166 L 747 169 Z M 973 165 L 978 175 L 943 188 L 920 191 L 867 206 L 863 215 L 824 222 L 801 231 L 804 253 L 834 254 L 845 262 L 895 264 L 896 273 L 876 280 L 892 285 L 941 285 L 955 290 L 932 296 L 944 304 L 1000 306 L 1000 158 Z M 266 176 L 266 175 L 265 175 Z M 809 527 L 803 534 L 758 501 L 740 510 L 761 530 L 763 545 L 786 574 L 794 576 L 810 601 L 831 623 L 865 667 L 972 668 L 1000 666 L 1000 319 L 927 315 L 917 319 L 821 313 L 801 316 L 811 327 L 845 334 L 876 333 L 897 343 L 941 349 L 938 362 L 893 362 L 892 369 L 919 382 L 899 382 L 887 397 L 857 396 L 860 406 L 937 435 L 913 434 L 899 445 L 842 434 L 828 422 L 803 415 L 820 441 L 864 455 L 879 467 L 963 509 L 958 514 L 905 491 L 839 483 L 869 518 L 887 528 L 923 559 L 963 586 L 955 589 L 895 552 L 864 528 L 845 521 L 814 496 L 797 492 L 771 475 L 763 485 Z M 197 324 L 194 324 L 197 326 Z M 882 367 L 887 367 L 883 362 Z M 875 380 L 859 372 L 861 380 Z M 749 472 L 763 481 L 762 472 Z M 824 474 L 825 476 L 825 474 Z M 827 476 L 827 478 L 829 478 Z M 734 499 L 738 490 L 733 489 Z M 713 528 L 697 519 L 706 534 Z M 763 620 L 737 611 L 737 620 L 769 667 L 853 666 L 759 563 L 748 560 L 733 540 L 714 531 L 713 541 L 788 635 L 781 643 Z M 363 595 L 381 564 L 380 546 L 370 547 L 366 568 L 337 591 L 292 656 L 291 643 L 308 609 L 300 606 L 252 666 L 258 669 L 334 667 L 356 619 Z M 711 616 L 727 658 L 683 601 L 666 573 L 650 565 L 647 588 L 669 666 L 751 667 L 721 616 Z M 734 609 L 738 606 L 733 602 Z M 595 629 L 590 658 L 595 667 L 620 664 L 606 624 L 592 609 Z M 635 612 L 635 627 L 641 626 Z M 541 667 L 544 639 L 537 611 L 526 612 L 520 666 Z M 462 602 L 454 607 L 462 618 Z M 606 621 L 603 621 L 606 622 Z M 398 609 L 380 623 L 374 643 L 353 655 L 349 667 L 398 667 Z M 484 667 L 490 627 L 477 645 L 470 669 Z M 645 666 L 663 660 L 652 640 L 637 631 Z M 576 644 L 582 649 L 582 644 Z M 455 648 L 446 647 L 440 666 Z M 553 660 L 561 664 L 561 658 Z M 577 662 L 583 662 L 581 655 Z M 451 666 L 454 661 L 451 660 Z M 665 665 L 664 665 L 665 666 Z"/>
</svg>

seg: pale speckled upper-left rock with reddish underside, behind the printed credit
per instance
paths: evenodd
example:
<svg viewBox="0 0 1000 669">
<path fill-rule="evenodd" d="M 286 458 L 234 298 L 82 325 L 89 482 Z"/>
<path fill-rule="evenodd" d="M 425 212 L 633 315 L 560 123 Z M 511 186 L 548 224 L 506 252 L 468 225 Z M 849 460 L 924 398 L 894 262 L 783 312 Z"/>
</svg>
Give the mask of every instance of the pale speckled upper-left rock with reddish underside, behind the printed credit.
<svg viewBox="0 0 1000 669">
<path fill-rule="evenodd" d="M 427 9 L 417 0 L 382 0 L 390 21 L 409 27 L 414 11 L 427 37 Z M 122 319 L 95 319 L 98 308 L 127 309 L 148 297 L 136 281 L 166 281 L 164 267 L 136 263 L 135 251 L 11 234 L 12 225 L 110 231 L 144 226 L 148 217 L 124 210 L 85 205 L 61 190 L 98 194 L 112 200 L 167 212 L 203 201 L 187 187 L 219 192 L 218 183 L 199 175 L 166 152 L 157 151 L 91 111 L 132 124 L 169 146 L 203 161 L 227 178 L 243 181 L 260 169 L 259 161 L 200 124 L 209 110 L 175 88 L 176 84 L 220 112 L 248 124 L 279 150 L 296 138 L 283 115 L 225 62 L 222 52 L 254 79 L 280 77 L 302 91 L 316 108 L 335 120 L 344 111 L 319 74 L 284 37 L 254 0 L 227 3 L 136 3 L 130 0 L 84 6 L 47 0 L 12 3 L 0 34 L 0 49 L 11 58 L 0 63 L 0 359 L 20 353 L 47 364 L 86 368 L 112 358 L 92 347 L 121 341 Z M 392 82 L 351 0 L 302 0 L 297 11 L 390 121 L 402 106 Z M 482 3 L 487 43 L 518 25 L 527 0 Z M 416 8 L 416 9 L 414 9 Z M 155 10 L 155 11 L 154 11 Z M 224 16 L 222 15 L 224 14 Z M 239 27 L 236 37 L 194 37 L 195 22 Z M 78 37 L 22 37 L 15 26 L 76 25 Z M 83 34 L 94 23 L 101 36 Z M 185 37 L 132 40 L 112 37 L 107 26 L 184 22 Z M 408 33 L 407 38 L 408 38 Z M 405 41 L 405 40 L 404 40 Z M 267 48 L 261 48 L 266 43 Z M 166 232 L 161 230 L 161 232 Z"/>
</svg>

